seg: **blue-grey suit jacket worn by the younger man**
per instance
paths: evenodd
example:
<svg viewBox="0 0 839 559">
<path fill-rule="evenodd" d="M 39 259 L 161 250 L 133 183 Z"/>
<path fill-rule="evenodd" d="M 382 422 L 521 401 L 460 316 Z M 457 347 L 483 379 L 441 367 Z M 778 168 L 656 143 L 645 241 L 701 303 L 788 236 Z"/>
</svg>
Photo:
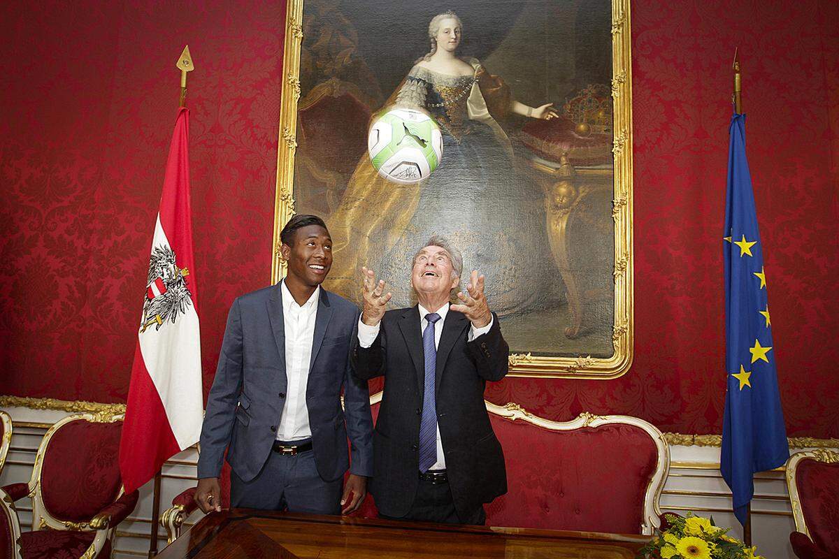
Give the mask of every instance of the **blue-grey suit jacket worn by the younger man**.
<svg viewBox="0 0 839 559">
<path fill-rule="evenodd" d="M 326 481 L 347 471 L 347 433 L 352 442 L 352 473 L 373 474 L 367 381 L 352 375 L 349 363 L 358 314 L 358 308 L 346 299 L 320 289 L 306 406 L 315 463 Z M 255 478 L 268 460 L 288 384 L 283 320 L 279 283 L 233 302 L 201 428 L 199 478 L 221 474 L 228 445 L 227 462 L 243 481 Z"/>
</svg>

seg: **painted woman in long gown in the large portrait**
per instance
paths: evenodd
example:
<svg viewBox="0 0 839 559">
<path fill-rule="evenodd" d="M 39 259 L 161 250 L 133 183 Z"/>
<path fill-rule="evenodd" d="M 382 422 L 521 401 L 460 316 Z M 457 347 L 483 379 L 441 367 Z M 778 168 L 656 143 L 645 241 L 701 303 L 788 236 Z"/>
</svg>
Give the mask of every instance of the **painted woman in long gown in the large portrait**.
<svg viewBox="0 0 839 559">
<path fill-rule="evenodd" d="M 486 275 L 502 317 L 555 298 L 543 194 L 517 178 L 499 121 L 511 114 L 550 120 L 557 113 L 551 103 L 516 101 L 480 60 L 461 57 L 465 33 L 456 13 L 432 18 L 429 52 L 383 106 L 419 108 L 435 119 L 443 133 L 440 167 L 419 184 L 393 184 L 362 156 L 328 218 L 335 260 L 327 288 L 353 297 L 358 270 L 367 266 L 388 282 L 395 305 L 409 305 L 409 259 L 425 238 L 444 235 L 463 252 L 465 271 Z"/>
</svg>

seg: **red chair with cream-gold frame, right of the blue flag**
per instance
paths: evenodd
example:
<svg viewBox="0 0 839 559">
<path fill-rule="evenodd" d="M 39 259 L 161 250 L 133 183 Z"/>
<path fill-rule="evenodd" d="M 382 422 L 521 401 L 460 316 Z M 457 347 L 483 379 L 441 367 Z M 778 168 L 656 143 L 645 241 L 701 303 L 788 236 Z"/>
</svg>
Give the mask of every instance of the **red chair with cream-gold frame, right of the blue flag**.
<svg viewBox="0 0 839 559">
<path fill-rule="evenodd" d="M 839 556 L 839 453 L 795 453 L 786 466 L 795 532 L 789 543 L 800 559 Z"/>
</svg>

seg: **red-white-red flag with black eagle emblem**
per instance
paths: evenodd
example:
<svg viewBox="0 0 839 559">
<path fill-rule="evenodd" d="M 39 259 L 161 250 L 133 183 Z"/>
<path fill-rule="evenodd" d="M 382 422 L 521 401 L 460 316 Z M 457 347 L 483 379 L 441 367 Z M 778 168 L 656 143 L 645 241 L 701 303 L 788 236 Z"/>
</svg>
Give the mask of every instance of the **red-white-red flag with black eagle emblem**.
<svg viewBox="0 0 839 559">
<path fill-rule="evenodd" d="M 190 218 L 190 111 L 180 109 L 160 210 L 122 425 L 119 467 L 126 492 L 201 436 L 201 338 Z"/>
</svg>

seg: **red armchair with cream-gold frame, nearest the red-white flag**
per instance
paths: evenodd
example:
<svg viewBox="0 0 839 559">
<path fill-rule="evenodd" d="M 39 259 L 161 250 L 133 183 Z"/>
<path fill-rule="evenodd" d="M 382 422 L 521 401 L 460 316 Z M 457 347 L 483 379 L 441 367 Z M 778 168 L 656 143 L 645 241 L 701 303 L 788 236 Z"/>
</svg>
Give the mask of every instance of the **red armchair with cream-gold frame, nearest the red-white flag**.
<svg viewBox="0 0 839 559">
<path fill-rule="evenodd" d="M 122 488 L 121 432 L 122 413 L 65 417 L 44 435 L 29 483 L 3 488 L 13 501 L 32 497 L 33 531 L 18 538 L 24 559 L 111 556 L 117 524 L 138 499 Z"/>
</svg>

